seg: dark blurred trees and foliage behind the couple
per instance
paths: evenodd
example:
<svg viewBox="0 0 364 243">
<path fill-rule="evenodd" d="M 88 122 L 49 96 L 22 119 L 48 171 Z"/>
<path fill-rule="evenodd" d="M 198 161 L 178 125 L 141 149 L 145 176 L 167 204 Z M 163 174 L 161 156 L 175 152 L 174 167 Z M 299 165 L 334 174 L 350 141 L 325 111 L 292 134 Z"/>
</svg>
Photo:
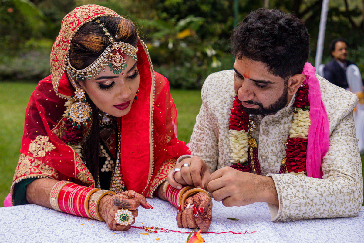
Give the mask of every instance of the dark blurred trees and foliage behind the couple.
<svg viewBox="0 0 364 243">
<path fill-rule="evenodd" d="M 88 0 L 0 0 L 0 78 L 42 78 L 49 73 L 49 53 L 61 21 L 76 6 Z M 232 67 L 229 36 L 234 25 L 236 0 L 95 0 L 126 15 L 139 26 L 154 69 L 165 75 L 172 87 L 202 86 L 211 72 Z M 262 7 L 290 12 L 305 23 L 311 36 L 311 56 L 316 42 L 322 0 L 240 0 L 238 21 Z M 363 4 L 330 0 L 325 36 L 324 62 L 331 39 L 344 37 L 359 65 L 364 60 Z M 37 61 L 38 60 L 38 61 Z M 359 66 L 358 65 L 358 66 Z M 363 66 L 363 64 L 361 65 Z M 364 75 L 364 70 L 361 68 Z"/>
</svg>

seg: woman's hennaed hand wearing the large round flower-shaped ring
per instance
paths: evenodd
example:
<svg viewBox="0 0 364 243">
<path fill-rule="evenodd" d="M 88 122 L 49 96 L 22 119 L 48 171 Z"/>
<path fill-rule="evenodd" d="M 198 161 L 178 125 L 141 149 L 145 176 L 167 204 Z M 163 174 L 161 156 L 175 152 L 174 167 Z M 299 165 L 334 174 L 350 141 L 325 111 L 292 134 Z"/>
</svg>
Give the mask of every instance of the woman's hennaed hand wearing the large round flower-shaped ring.
<svg viewBox="0 0 364 243">
<path fill-rule="evenodd" d="M 138 216 L 139 205 L 146 209 L 152 208 L 145 200 L 145 197 L 135 191 L 130 190 L 114 196 L 106 195 L 100 201 L 99 214 L 111 230 L 124 231 L 130 229 L 130 225 L 118 224 L 115 220 L 115 213 L 122 208 L 128 209 L 134 215 L 134 220 L 131 223 L 134 224 L 135 217 Z"/>
</svg>

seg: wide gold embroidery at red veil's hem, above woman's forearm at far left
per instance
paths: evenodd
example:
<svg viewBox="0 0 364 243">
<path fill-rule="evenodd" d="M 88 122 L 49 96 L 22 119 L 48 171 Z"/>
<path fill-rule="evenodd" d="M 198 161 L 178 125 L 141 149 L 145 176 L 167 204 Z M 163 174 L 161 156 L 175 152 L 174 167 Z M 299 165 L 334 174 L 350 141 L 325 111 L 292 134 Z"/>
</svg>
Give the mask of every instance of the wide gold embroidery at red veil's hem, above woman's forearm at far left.
<svg viewBox="0 0 364 243">
<path fill-rule="evenodd" d="M 13 181 L 17 178 L 31 174 L 41 174 L 58 179 L 58 173 L 53 167 L 43 164 L 40 160 L 37 160 L 32 156 L 20 154 Z"/>
</svg>

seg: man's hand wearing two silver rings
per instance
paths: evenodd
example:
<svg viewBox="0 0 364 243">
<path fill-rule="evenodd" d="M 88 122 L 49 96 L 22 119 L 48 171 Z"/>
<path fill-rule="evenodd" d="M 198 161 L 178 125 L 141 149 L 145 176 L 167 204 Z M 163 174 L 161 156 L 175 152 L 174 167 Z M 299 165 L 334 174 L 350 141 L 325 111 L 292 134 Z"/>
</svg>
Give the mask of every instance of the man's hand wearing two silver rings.
<svg viewBox="0 0 364 243">
<path fill-rule="evenodd" d="M 181 189 L 182 185 L 194 185 L 197 188 L 203 188 L 207 177 L 210 175 L 209 166 L 197 156 L 185 158 L 174 166 L 174 169 L 176 168 L 181 169 L 181 171 L 177 171 L 173 175 L 174 170 L 172 170 L 167 176 L 167 181 L 177 189 Z"/>
</svg>

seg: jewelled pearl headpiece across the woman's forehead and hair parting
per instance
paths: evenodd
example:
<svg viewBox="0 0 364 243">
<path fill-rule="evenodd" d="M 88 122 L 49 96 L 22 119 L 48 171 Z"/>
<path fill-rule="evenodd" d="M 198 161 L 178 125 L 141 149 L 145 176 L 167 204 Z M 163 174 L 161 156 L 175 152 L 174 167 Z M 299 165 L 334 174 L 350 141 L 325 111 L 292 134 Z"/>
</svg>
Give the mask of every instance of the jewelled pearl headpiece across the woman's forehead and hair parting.
<svg viewBox="0 0 364 243">
<path fill-rule="evenodd" d="M 108 36 L 110 41 L 110 45 L 102 52 L 98 59 L 95 62 L 91 63 L 90 66 L 83 68 L 82 70 L 77 70 L 72 67 L 70 63 L 70 59 L 67 58 L 67 66 L 66 71 L 71 74 L 73 78 L 82 79 L 88 77 L 88 79 L 95 78 L 95 76 L 100 74 L 100 71 L 105 71 L 105 67 L 109 67 L 110 71 L 124 75 L 123 71 L 127 67 L 125 56 L 128 56 L 138 62 L 137 52 L 138 48 L 132 46 L 131 44 L 124 42 L 114 42 L 109 31 L 104 27 L 104 23 L 101 23 L 100 20 L 95 20 L 96 23 L 99 24 L 100 28 L 105 32 L 105 35 Z M 117 37 L 117 35 L 115 36 Z"/>
</svg>

